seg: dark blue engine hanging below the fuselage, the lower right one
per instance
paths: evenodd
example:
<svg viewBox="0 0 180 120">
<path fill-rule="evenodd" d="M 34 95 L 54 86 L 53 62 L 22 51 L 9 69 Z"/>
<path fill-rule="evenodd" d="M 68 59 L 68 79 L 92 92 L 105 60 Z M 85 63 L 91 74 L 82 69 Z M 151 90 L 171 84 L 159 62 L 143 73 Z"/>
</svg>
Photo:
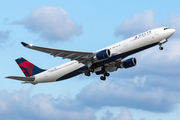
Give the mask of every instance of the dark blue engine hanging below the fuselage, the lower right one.
<svg viewBox="0 0 180 120">
<path fill-rule="evenodd" d="M 137 64 L 136 58 L 130 58 L 122 62 L 120 65 L 121 68 L 133 67 Z"/>
</svg>

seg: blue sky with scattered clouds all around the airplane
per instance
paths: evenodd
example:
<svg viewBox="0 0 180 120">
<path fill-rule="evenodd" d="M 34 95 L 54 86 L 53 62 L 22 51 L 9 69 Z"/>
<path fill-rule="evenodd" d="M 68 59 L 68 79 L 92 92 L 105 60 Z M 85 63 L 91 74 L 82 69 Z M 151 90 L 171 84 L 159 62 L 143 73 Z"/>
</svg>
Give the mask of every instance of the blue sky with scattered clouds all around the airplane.
<svg viewBox="0 0 180 120">
<path fill-rule="evenodd" d="M 179 120 L 180 2 L 177 0 L 0 0 L 0 119 Z M 163 45 L 132 55 L 137 66 L 106 81 L 80 75 L 65 81 L 21 84 L 15 59 L 50 69 L 69 60 L 24 48 L 20 42 L 95 51 L 149 29 L 176 33 Z M 130 57 L 132 57 L 130 56 Z"/>
</svg>

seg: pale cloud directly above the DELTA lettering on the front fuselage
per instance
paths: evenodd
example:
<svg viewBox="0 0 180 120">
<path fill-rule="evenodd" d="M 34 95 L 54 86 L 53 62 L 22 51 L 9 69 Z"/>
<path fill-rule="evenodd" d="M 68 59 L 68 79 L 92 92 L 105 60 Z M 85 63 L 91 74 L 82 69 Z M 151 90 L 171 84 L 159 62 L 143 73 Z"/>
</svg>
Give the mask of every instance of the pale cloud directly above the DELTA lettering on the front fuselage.
<svg viewBox="0 0 180 120">
<path fill-rule="evenodd" d="M 133 15 L 132 18 L 125 19 L 115 30 L 116 36 L 125 38 L 162 26 L 161 22 L 156 21 L 156 13 L 152 10 L 146 10 L 142 13 Z"/>
</svg>

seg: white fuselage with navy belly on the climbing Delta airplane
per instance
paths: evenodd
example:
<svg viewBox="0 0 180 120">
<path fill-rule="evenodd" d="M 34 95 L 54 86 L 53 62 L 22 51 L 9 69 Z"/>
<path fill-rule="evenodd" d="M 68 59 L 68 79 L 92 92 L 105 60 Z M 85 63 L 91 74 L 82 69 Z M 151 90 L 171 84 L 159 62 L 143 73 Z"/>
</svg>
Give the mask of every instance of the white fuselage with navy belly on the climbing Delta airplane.
<svg viewBox="0 0 180 120">
<path fill-rule="evenodd" d="M 104 61 L 111 62 L 115 59 L 119 59 L 117 57 L 114 57 L 117 55 L 123 55 L 123 57 L 121 56 L 123 59 L 128 55 L 158 45 L 163 40 L 166 41 L 169 37 L 173 35 L 174 32 L 175 32 L 174 29 L 169 29 L 169 28 L 165 29 L 164 27 L 146 31 L 139 35 L 128 38 L 124 41 L 103 48 L 103 49 L 109 49 L 111 51 L 112 56 L 111 58 L 108 58 L 108 60 L 106 59 L 96 62 L 99 64 L 103 63 Z M 97 53 L 98 51 L 96 51 L 95 53 Z M 112 59 L 113 57 L 114 59 Z M 35 80 L 32 83 L 36 84 L 36 83 L 64 80 L 76 76 L 78 74 L 81 74 L 86 69 L 88 69 L 87 66 L 85 66 L 82 63 L 79 63 L 76 60 L 73 60 L 65 64 L 62 64 L 60 66 L 49 69 L 47 71 L 44 71 L 42 73 L 34 75 Z"/>
</svg>

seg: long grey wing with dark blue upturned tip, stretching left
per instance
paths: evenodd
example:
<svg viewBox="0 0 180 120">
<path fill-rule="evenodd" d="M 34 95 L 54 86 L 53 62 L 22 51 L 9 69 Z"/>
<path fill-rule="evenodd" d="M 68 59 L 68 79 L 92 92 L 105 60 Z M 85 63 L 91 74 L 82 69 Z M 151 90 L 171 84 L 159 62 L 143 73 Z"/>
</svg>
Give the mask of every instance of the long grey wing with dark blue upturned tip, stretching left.
<svg viewBox="0 0 180 120">
<path fill-rule="evenodd" d="M 21 42 L 24 47 L 45 52 L 50 55 L 53 55 L 54 57 L 62 57 L 63 59 L 68 58 L 71 60 L 77 60 L 80 63 L 87 64 L 88 61 L 92 60 L 94 53 L 93 52 L 81 52 L 81 51 L 70 51 L 70 50 L 62 50 L 62 49 L 53 49 L 53 48 L 45 48 L 45 47 L 39 47 L 34 46 L 32 44 L 27 44 L 24 42 Z"/>
</svg>

